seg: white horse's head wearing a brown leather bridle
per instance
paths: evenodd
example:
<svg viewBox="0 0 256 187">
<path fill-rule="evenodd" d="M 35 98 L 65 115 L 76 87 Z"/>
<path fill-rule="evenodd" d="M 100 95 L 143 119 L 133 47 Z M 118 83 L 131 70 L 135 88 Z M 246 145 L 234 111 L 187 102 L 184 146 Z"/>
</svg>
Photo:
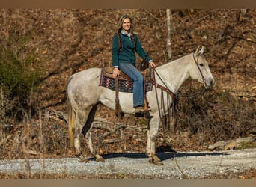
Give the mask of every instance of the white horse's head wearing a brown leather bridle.
<svg viewBox="0 0 256 187">
<path fill-rule="evenodd" d="M 212 73 L 210 72 L 209 64 L 204 57 L 204 46 L 200 47 L 195 50 L 193 54 L 193 61 L 195 62 L 193 71 L 191 73 L 192 79 L 197 79 L 198 82 L 204 84 L 205 88 L 213 88 L 214 85 L 214 78 Z"/>
</svg>

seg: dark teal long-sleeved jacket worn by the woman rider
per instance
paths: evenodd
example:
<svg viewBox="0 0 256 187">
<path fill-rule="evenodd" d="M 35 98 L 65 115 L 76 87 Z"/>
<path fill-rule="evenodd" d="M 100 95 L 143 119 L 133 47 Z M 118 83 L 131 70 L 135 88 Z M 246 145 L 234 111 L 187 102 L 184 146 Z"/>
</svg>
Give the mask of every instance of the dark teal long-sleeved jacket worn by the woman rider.
<svg viewBox="0 0 256 187">
<path fill-rule="evenodd" d="M 144 56 L 146 55 L 146 52 L 144 52 L 144 49 L 141 47 L 141 43 L 139 42 L 137 35 L 134 34 L 133 37 L 135 40 L 135 46 L 132 42 L 131 37 L 121 32 L 121 49 L 119 50 L 118 34 L 114 35 L 112 39 L 113 67 L 118 67 L 120 62 L 130 63 L 135 66 L 135 52 L 137 52 L 141 58 L 144 58 Z M 147 61 L 152 61 L 152 59 L 149 56 L 147 56 Z"/>
</svg>

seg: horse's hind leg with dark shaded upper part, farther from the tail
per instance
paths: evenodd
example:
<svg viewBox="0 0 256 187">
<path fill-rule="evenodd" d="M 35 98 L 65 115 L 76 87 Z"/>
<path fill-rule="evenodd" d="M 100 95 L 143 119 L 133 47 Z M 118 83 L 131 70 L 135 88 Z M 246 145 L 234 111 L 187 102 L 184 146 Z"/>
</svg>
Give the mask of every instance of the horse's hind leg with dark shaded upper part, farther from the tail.
<svg viewBox="0 0 256 187">
<path fill-rule="evenodd" d="M 89 113 L 88 120 L 86 121 L 85 126 L 82 129 L 82 134 L 85 135 L 86 144 L 89 147 L 91 154 L 93 156 L 95 156 L 96 161 L 104 162 L 105 160 L 94 149 L 92 141 L 91 141 L 91 130 L 93 128 L 93 122 L 94 122 L 94 116 L 95 116 L 96 109 L 97 109 L 97 105 L 94 105 Z"/>
</svg>

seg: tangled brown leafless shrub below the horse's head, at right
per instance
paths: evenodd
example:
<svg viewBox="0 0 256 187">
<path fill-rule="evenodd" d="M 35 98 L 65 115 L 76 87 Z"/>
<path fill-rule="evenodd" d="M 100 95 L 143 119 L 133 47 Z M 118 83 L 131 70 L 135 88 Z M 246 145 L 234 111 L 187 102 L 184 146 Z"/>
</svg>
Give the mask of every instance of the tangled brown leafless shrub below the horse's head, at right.
<svg viewBox="0 0 256 187">
<path fill-rule="evenodd" d="M 195 93 L 189 89 L 185 92 Z M 231 91 L 221 91 L 220 88 L 204 95 L 180 98 L 177 131 L 202 135 L 201 142 L 197 142 L 201 145 L 246 137 L 252 133 L 256 123 L 252 99 L 237 98 Z"/>
</svg>

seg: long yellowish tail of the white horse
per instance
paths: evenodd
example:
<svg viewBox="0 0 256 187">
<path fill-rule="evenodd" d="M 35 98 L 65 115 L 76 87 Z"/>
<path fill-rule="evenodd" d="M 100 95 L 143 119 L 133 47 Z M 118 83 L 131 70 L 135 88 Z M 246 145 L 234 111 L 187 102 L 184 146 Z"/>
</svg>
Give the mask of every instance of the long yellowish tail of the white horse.
<svg viewBox="0 0 256 187">
<path fill-rule="evenodd" d="M 73 134 L 73 124 L 75 121 L 76 113 L 72 108 L 70 99 L 67 97 L 67 107 L 68 107 L 68 132 L 70 135 L 70 147 L 74 147 L 74 134 Z"/>
</svg>

